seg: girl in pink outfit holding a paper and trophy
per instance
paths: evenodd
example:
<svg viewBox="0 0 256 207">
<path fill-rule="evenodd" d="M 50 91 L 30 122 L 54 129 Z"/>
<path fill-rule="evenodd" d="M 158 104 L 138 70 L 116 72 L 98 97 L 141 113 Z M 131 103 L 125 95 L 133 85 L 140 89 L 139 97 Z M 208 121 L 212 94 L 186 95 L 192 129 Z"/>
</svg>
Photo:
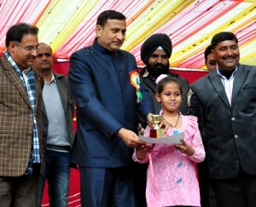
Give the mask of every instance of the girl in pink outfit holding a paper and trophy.
<svg viewBox="0 0 256 207">
<path fill-rule="evenodd" d="M 136 148 L 133 159 L 141 164 L 149 162 L 148 207 L 200 206 L 195 163 L 204 160 L 205 150 L 197 118 L 177 111 L 182 102 L 182 87 L 176 78 L 160 75 L 156 83 L 156 99 L 162 106 L 160 114 L 166 125 L 166 136 L 183 131 L 185 136 L 181 145 L 147 144 Z M 145 136 L 149 136 L 150 129 L 147 126 Z"/>
</svg>

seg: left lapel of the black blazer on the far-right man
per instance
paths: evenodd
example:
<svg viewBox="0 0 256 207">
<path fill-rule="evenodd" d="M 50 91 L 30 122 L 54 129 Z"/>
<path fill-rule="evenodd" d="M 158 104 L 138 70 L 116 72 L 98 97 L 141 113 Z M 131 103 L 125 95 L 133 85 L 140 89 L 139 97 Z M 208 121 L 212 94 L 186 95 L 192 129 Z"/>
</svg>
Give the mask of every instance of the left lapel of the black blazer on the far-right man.
<svg viewBox="0 0 256 207">
<path fill-rule="evenodd" d="M 216 89 L 218 95 L 221 97 L 221 99 L 224 101 L 225 105 L 230 108 L 230 102 L 228 100 L 228 97 L 226 95 L 224 85 L 221 81 L 221 78 L 218 76 L 217 71 L 211 72 L 209 75 L 210 82 L 212 83 L 212 86 L 214 89 Z"/>
</svg>

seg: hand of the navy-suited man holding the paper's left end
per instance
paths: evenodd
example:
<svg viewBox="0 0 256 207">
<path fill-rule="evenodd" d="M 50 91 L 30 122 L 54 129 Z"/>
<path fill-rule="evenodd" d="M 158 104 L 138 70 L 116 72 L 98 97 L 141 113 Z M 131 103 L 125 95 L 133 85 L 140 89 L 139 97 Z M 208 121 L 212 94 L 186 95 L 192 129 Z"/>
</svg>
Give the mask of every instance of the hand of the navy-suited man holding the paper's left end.
<svg viewBox="0 0 256 207">
<path fill-rule="evenodd" d="M 129 129 L 119 129 L 118 136 L 125 142 L 127 147 L 139 147 L 146 144 L 145 141 L 140 141 L 138 136 Z"/>
</svg>

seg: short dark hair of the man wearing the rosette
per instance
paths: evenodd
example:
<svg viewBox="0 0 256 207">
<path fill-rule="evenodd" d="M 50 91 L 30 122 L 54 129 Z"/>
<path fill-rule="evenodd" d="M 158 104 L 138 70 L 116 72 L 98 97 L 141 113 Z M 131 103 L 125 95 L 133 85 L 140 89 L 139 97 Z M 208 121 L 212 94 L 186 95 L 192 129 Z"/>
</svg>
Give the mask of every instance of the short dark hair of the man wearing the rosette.
<svg viewBox="0 0 256 207">
<path fill-rule="evenodd" d="M 126 20 L 126 17 L 124 14 L 121 14 L 118 11 L 106 10 L 98 16 L 96 25 L 104 27 L 107 20 Z"/>
</svg>

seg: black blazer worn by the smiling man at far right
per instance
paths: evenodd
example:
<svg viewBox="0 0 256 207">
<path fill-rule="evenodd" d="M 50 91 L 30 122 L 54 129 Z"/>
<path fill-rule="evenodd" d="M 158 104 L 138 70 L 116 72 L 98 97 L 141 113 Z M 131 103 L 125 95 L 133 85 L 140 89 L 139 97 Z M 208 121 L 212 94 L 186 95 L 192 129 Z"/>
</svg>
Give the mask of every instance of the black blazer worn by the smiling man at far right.
<svg viewBox="0 0 256 207">
<path fill-rule="evenodd" d="M 191 89 L 189 114 L 199 118 L 204 132 L 210 178 L 233 178 L 240 166 L 256 175 L 256 67 L 238 65 L 231 106 L 217 71 Z"/>
</svg>

